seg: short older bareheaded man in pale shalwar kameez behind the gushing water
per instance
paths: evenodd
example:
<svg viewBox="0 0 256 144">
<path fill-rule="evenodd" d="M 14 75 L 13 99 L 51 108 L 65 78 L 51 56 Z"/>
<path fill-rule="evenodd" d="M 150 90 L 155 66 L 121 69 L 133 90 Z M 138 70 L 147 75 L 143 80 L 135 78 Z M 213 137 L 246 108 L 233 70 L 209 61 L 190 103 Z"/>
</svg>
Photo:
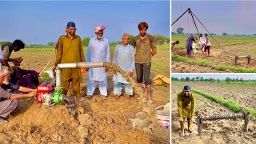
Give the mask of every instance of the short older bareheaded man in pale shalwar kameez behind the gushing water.
<svg viewBox="0 0 256 144">
<path fill-rule="evenodd" d="M 119 66 L 122 70 L 126 71 L 130 77 L 133 76 L 135 69 L 135 57 L 134 46 L 128 44 L 130 40 L 129 34 L 122 35 L 122 44 L 115 47 L 113 63 Z M 133 95 L 133 88 L 129 85 L 125 78 L 121 74 L 114 71 L 114 95 L 118 99 L 122 94 L 122 88 L 125 86 L 126 94 L 128 94 L 128 100 Z"/>
</svg>

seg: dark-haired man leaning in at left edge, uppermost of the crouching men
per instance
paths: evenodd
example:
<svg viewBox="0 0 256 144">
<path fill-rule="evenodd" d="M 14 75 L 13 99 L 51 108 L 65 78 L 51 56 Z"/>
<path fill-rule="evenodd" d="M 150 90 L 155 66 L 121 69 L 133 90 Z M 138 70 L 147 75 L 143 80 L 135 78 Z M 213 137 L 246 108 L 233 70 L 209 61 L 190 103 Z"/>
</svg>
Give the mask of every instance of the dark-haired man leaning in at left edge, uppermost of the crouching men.
<svg viewBox="0 0 256 144">
<path fill-rule="evenodd" d="M 23 58 L 19 57 L 19 58 L 10 58 L 10 54 L 11 52 L 14 50 L 19 51 L 21 49 L 24 49 L 24 42 L 22 42 L 22 40 L 20 39 L 16 39 L 13 43 L 11 42 L 0 42 L 1 47 L 2 47 L 2 66 L 7 66 L 10 69 L 10 65 L 8 62 L 22 62 Z"/>
</svg>

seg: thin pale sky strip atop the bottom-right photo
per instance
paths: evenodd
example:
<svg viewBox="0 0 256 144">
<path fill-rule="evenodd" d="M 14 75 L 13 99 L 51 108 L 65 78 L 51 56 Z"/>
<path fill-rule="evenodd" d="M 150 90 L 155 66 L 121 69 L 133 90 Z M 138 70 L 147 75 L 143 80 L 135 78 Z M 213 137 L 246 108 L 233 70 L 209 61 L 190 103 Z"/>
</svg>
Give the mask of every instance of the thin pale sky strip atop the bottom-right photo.
<svg viewBox="0 0 256 144">
<path fill-rule="evenodd" d="M 229 78 L 243 78 L 244 80 L 255 80 L 256 74 L 172 74 L 174 78 L 196 78 L 196 77 L 203 77 L 203 78 L 215 78 L 215 79 L 226 79 Z"/>
</svg>

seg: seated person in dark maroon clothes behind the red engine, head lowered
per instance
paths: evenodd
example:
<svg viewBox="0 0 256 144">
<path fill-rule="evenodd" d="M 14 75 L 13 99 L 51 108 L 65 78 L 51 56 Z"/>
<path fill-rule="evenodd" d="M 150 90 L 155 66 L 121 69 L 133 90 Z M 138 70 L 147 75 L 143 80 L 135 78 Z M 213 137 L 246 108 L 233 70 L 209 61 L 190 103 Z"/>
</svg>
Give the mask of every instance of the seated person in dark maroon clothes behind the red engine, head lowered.
<svg viewBox="0 0 256 144">
<path fill-rule="evenodd" d="M 37 87 L 42 83 L 38 72 L 34 70 L 23 70 L 19 68 L 20 65 L 21 62 L 14 62 L 14 66 L 12 67 L 13 72 L 10 74 L 11 83 L 18 86 L 29 87 L 30 89 L 34 89 L 34 86 Z"/>
</svg>

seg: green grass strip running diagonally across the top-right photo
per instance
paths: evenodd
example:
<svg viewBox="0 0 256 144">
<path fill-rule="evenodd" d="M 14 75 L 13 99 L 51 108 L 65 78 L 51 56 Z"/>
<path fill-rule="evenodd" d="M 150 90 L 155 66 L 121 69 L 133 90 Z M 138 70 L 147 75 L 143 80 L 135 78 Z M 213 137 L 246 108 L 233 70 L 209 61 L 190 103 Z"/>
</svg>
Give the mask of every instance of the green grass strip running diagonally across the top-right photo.
<svg viewBox="0 0 256 144">
<path fill-rule="evenodd" d="M 253 69 L 248 69 L 248 68 L 244 68 L 244 67 L 235 67 L 235 66 L 229 66 L 229 65 L 214 65 L 212 62 L 208 61 L 208 60 L 204 60 L 204 59 L 198 59 L 198 60 L 193 60 L 190 58 L 186 58 L 186 57 L 182 57 L 179 55 L 171 55 L 171 59 L 172 61 L 178 61 L 178 62 L 187 62 L 190 64 L 197 64 L 199 66 L 206 66 L 206 67 L 212 67 L 215 70 L 220 70 L 220 71 L 224 71 L 224 70 L 231 70 L 233 72 L 237 72 L 237 73 L 256 73 L 256 70 Z"/>
</svg>

